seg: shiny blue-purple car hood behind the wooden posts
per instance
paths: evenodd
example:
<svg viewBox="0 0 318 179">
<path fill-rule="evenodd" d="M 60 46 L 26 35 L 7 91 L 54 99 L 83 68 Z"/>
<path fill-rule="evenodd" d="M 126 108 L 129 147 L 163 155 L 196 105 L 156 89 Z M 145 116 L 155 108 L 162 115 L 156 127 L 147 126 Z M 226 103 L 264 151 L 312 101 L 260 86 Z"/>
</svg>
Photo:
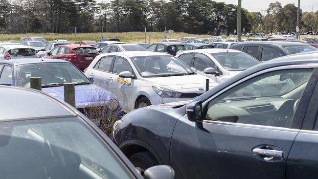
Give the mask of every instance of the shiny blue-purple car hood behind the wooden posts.
<svg viewBox="0 0 318 179">
<path fill-rule="evenodd" d="M 43 88 L 43 92 L 64 101 L 64 87 Z M 75 86 L 75 105 L 76 108 L 103 105 L 110 99 L 116 99 L 114 94 L 96 85 L 77 85 Z"/>
</svg>

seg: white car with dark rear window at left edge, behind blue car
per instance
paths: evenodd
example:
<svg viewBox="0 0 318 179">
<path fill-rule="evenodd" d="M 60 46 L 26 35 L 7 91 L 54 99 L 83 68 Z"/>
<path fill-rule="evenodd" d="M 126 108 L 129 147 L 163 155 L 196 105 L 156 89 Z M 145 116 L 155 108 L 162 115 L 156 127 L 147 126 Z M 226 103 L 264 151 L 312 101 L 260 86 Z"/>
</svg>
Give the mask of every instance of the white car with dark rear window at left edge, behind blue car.
<svg viewBox="0 0 318 179">
<path fill-rule="evenodd" d="M 35 50 L 26 45 L 1 45 L 0 61 L 16 58 L 37 58 Z"/>
</svg>

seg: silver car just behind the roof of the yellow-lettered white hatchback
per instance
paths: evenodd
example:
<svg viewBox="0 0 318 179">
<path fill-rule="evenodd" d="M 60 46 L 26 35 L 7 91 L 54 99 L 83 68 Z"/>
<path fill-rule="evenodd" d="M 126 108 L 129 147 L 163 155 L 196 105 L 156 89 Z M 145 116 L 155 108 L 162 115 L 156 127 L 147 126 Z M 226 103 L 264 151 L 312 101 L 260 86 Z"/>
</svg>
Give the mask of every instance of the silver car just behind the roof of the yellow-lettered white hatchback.
<svg viewBox="0 0 318 179">
<path fill-rule="evenodd" d="M 112 44 L 102 48 L 100 53 L 112 53 L 118 51 L 147 51 L 147 49 L 136 44 Z"/>
</svg>

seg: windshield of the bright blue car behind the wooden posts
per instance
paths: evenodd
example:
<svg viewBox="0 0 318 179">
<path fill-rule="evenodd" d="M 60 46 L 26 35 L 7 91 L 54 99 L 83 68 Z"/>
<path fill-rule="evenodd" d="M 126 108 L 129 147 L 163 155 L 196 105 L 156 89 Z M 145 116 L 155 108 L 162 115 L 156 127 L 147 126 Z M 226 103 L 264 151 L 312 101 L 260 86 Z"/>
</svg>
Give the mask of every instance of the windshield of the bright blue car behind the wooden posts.
<svg viewBox="0 0 318 179">
<path fill-rule="evenodd" d="M 89 79 L 69 63 L 39 63 L 16 67 L 17 85 L 30 87 L 30 77 L 41 77 L 42 86 L 62 86 L 64 83 L 91 84 Z"/>
</svg>

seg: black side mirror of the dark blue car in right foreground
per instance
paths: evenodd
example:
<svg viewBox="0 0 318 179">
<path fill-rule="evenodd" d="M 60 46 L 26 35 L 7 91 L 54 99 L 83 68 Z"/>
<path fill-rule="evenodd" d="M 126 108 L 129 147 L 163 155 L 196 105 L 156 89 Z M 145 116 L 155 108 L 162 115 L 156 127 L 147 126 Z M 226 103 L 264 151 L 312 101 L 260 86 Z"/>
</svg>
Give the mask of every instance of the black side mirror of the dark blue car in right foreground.
<svg viewBox="0 0 318 179">
<path fill-rule="evenodd" d="M 192 122 L 202 121 L 202 102 L 193 101 L 186 106 L 186 114 Z"/>
</svg>

